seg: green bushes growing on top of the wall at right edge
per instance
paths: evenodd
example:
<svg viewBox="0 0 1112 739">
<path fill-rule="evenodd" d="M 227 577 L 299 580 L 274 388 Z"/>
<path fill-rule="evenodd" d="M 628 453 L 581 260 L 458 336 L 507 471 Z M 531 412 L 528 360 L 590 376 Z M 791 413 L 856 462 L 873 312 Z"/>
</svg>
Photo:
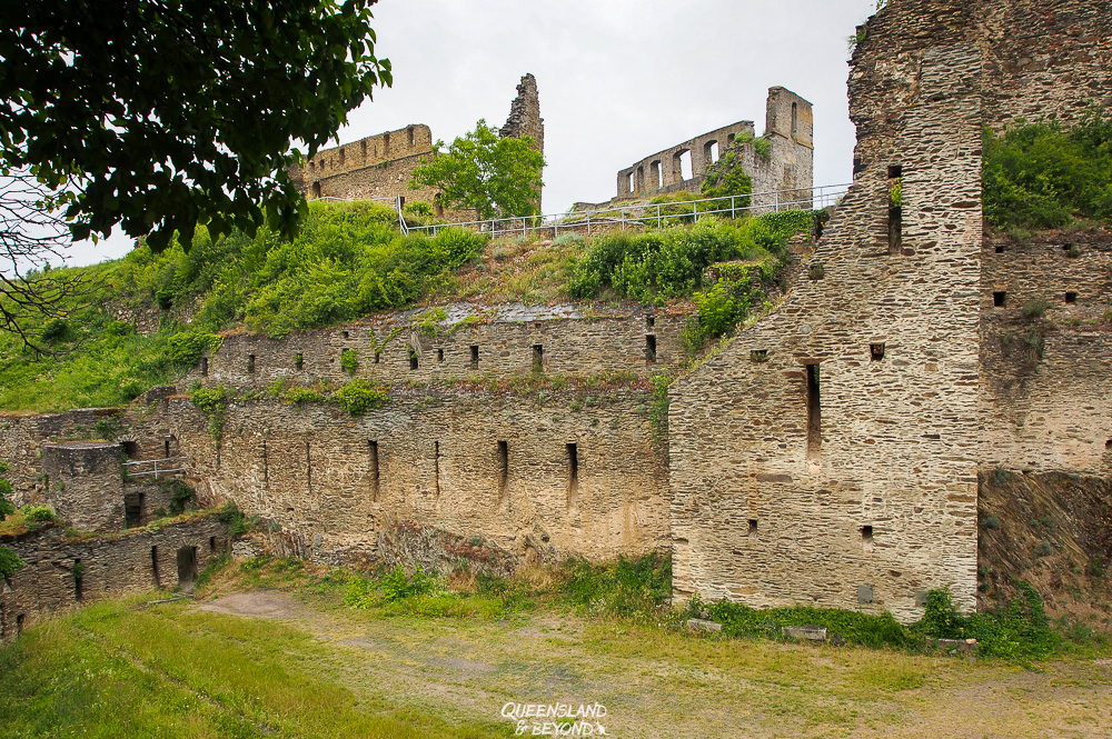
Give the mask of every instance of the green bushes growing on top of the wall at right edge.
<svg viewBox="0 0 1112 739">
<path fill-rule="evenodd" d="M 1059 121 L 984 130 L 985 221 L 999 228 L 1062 228 L 1112 220 L 1112 120 L 1090 109 L 1070 130 Z"/>
</svg>

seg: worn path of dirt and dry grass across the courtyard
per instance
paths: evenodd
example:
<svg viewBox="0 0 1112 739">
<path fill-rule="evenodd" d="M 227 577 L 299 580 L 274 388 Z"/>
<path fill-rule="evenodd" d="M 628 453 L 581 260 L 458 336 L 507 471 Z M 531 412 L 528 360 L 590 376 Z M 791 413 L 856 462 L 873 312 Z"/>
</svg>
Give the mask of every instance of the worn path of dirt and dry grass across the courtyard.
<svg viewBox="0 0 1112 739">
<path fill-rule="evenodd" d="M 594 725 L 613 737 L 1112 738 L 1112 660 L 1056 661 L 1036 672 L 694 639 L 549 613 L 510 621 L 373 618 L 271 590 L 197 608 L 297 622 L 331 647 L 319 669 L 358 695 L 449 720 L 509 727 L 499 718 L 507 702 L 597 702 L 607 715 Z"/>
</svg>

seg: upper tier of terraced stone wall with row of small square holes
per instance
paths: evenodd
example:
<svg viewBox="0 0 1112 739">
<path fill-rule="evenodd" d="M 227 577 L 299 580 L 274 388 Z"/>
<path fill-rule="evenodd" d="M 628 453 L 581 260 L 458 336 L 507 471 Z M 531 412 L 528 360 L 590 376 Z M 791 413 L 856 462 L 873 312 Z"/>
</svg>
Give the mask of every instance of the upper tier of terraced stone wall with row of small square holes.
<svg viewBox="0 0 1112 739">
<path fill-rule="evenodd" d="M 540 369 L 558 376 L 644 376 L 674 369 L 683 360 L 679 333 L 685 317 L 664 311 L 583 313 L 570 306 L 449 309 L 433 336 L 414 328 L 421 318 L 413 311 L 284 339 L 230 336 L 201 359 L 185 383 L 267 387 L 279 379 L 312 383 L 346 382 L 353 377 L 380 382 L 514 377 L 534 371 L 537 347 Z M 354 351 L 358 362 L 353 375 L 340 364 L 346 350 Z"/>
</svg>

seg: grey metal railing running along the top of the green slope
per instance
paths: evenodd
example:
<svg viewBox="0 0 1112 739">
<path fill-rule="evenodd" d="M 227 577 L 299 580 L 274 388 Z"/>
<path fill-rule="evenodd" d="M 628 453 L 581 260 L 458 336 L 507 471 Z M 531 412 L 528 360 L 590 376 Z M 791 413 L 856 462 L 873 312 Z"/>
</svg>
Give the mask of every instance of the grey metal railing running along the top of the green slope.
<svg viewBox="0 0 1112 739">
<path fill-rule="evenodd" d="M 848 189 L 850 183 L 824 184 L 815 188 L 754 192 L 747 196 L 679 200 L 664 203 L 627 203 L 612 208 L 555 216 L 493 218 L 458 223 L 431 223 L 428 226 L 407 223 L 401 212 L 400 198 L 396 200 L 395 207 L 398 211 L 398 224 L 405 234 L 415 231 L 425 231 L 436 236 L 440 229 L 463 227 L 492 236 L 520 233 L 523 237 L 528 237 L 530 232 L 537 234 L 538 232 L 552 231 L 552 237 L 555 239 L 562 230 L 565 232 L 586 231 L 587 236 L 590 236 L 592 230 L 600 231 L 619 228 L 625 231 L 627 229 L 645 228 L 646 226 L 661 227 L 668 223 L 694 221 L 705 216 L 728 216 L 729 218 L 736 218 L 744 213 L 791 210 L 793 208 L 806 208 L 808 210 L 812 208 L 826 208 L 827 206 L 835 204 Z M 747 204 L 745 204 L 746 200 L 748 200 Z"/>
</svg>

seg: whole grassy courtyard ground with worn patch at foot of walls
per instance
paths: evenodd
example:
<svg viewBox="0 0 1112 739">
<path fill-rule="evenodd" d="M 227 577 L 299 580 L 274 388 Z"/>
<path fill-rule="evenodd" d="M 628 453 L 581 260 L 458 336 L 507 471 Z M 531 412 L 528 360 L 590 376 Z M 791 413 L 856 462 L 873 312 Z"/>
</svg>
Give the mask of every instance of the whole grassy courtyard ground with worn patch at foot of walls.
<svg viewBox="0 0 1112 739">
<path fill-rule="evenodd" d="M 261 596 L 285 621 L 115 601 L 32 627 L 0 650 L 0 737 L 502 737 L 505 702 L 556 700 L 599 701 L 612 736 L 646 738 L 1083 737 L 1112 719 L 1112 675 L 1091 660 L 1106 648 L 1027 671 L 721 639 L 544 597 L 355 610 L 342 573 L 300 568 L 248 560 L 200 591 L 231 612 Z"/>
</svg>

